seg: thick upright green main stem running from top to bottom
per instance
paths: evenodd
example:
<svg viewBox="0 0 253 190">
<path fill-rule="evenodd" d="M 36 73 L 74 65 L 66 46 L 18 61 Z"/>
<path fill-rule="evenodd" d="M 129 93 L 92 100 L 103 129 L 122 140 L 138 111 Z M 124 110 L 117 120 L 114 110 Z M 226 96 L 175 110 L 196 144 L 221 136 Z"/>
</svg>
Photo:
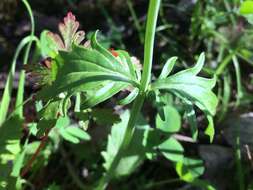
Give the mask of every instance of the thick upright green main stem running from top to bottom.
<svg viewBox="0 0 253 190">
<path fill-rule="evenodd" d="M 131 110 L 130 118 L 127 124 L 127 128 L 123 137 L 122 144 L 118 150 L 118 153 L 114 157 L 114 160 L 106 172 L 106 174 L 102 177 L 99 181 L 98 186 L 96 187 L 97 190 L 105 189 L 111 178 L 114 176 L 114 171 L 117 168 L 122 155 L 124 154 L 125 150 L 128 148 L 133 133 L 135 130 L 135 123 L 137 121 L 138 115 L 142 108 L 148 86 L 150 83 L 151 78 L 151 69 L 152 69 L 152 61 L 153 61 L 153 49 L 154 49 L 154 39 L 155 39 L 155 29 L 157 23 L 157 17 L 159 13 L 161 0 L 150 0 L 149 9 L 148 9 L 148 18 L 147 18 L 147 25 L 146 25 L 146 33 L 145 33 L 145 45 L 144 45 L 144 67 L 143 67 L 143 74 L 141 78 L 141 87 L 137 98 L 133 103 L 133 107 Z"/>
</svg>

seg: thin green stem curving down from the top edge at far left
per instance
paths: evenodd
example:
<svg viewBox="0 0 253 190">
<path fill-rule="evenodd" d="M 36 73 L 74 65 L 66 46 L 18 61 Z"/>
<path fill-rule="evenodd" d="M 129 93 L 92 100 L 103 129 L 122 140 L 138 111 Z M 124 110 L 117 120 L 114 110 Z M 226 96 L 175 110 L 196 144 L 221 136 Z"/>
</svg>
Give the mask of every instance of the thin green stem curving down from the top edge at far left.
<svg viewBox="0 0 253 190">
<path fill-rule="evenodd" d="M 24 3 L 27 12 L 29 14 L 30 17 L 30 21 L 31 21 L 31 33 L 30 33 L 30 37 L 34 36 L 34 30 L 35 30 L 35 24 L 34 24 L 34 17 L 33 17 L 33 13 L 32 13 L 32 9 L 29 5 L 29 3 L 27 2 L 27 0 L 22 0 L 22 2 Z M 23 64 L 26 65 L 28 62 L 28 58 L 29 58 L 29 53 L 31 50 L 31 46 L 32 46 L 32 40 L 28 43 L 26 50 L 25 50 L 25 55 L 24 55 L 24 60 L 23 60 Z M 22 104 L 23 100 L 24 100 L 24 86 L 25 86 L 25 71 L 22 70 L 20 72 L 20 77 L 19 77 L 19 85 L 18 85 L 18 92 L 17 92 L 17 100 L 16 100 L 16 107 L 20 104 Z M 20 117 L 23 117 L 23 106 L 20 106 L 17 109 L 17 114 Z"/>
</svg>

